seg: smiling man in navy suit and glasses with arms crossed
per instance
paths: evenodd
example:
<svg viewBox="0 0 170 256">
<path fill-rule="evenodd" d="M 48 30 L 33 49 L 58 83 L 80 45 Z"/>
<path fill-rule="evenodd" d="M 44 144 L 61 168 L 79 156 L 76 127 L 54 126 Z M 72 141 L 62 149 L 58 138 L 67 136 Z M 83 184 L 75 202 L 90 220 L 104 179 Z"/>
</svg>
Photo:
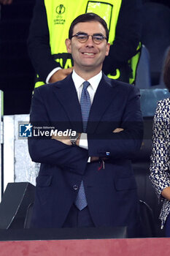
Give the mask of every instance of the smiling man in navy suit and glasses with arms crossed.
<svg viewBox="0 0 170 256">
<path fill-rule="evenodd" d="M 74 71 L 34 92 L 34 129 L 73 133 L 50 133 L 45 139 L 42 132 L 43 138 L 28 140 L 31 159 L 41 163 L 31 227 L 128 226 L 129 236 L 136 236 L 138 198 L 131 157 L 142 142 L 139 91 L 101 72 L 108 37 L 107 24 L 98 15 L 77 17 L 66 39 Z"/>
</svg>

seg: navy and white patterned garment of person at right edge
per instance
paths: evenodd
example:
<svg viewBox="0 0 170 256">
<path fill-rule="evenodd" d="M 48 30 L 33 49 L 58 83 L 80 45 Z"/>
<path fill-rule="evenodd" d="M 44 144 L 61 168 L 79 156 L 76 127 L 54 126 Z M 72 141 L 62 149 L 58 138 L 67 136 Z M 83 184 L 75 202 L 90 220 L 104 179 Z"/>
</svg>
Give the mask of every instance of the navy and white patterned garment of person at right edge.
<svg viewBox="0 0 170 256">
<path fill-rule="evenodd" d="M 170 213 L 170 201 L 161 196 L 161 192 L 170 186 L 170 99 L 158 102 L 152 128 L 152 154 L 150 162 L 150 181 L 158 195 L 163 201 L 160 219 L 161 228 Z"/>
</svg>

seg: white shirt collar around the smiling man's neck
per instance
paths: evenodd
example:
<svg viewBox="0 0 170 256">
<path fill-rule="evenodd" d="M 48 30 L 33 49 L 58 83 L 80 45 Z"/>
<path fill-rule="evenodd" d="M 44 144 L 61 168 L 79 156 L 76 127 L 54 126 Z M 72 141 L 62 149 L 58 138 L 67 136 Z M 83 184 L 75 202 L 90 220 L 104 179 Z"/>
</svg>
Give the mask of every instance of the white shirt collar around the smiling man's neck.
<svg viewBox="0 0 170 256">
<path fill-rule="evenodd" d="M 94 91 L 96 91 L 96 89 L 98 88 L 98 83 L 100 83 L 101 77 L 102 77 L 102 72 L 99 72 L 93 78 L 90 78 L 88 80 L 88 82 L 90 83 Z M 81 78 L 80 75 L 77 75 L 75 70 L 73 70 L 73 73 L 72 73 L 72 80 L 74 82 L 74 85 L 77 91 L 78 89 L 80 89 L 80 86 L 82 86 L 82 83 L 85 82 L 85 79 Z"/>
</svg>

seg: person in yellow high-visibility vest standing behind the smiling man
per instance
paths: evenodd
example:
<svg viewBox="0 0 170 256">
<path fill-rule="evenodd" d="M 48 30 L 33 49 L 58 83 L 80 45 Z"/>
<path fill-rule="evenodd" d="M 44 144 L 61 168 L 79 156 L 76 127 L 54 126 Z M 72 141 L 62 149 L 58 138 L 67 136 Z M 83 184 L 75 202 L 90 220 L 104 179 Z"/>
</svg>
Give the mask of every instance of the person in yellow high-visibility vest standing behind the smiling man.
<svg viewBox="0 0 170 256">
<path fill-rule="evenodd" d="M 109 78 L 134 83 L 142 30 L 142 0 L 36 0 L 28 37 L 28 53 L 36 73 L 36 87 L 66 78 L 74 65 L 66 51 L 69 24 L 78 15 L 94 12 L 109 28 L 109 56 L 103 71 Z"/>
</svg>

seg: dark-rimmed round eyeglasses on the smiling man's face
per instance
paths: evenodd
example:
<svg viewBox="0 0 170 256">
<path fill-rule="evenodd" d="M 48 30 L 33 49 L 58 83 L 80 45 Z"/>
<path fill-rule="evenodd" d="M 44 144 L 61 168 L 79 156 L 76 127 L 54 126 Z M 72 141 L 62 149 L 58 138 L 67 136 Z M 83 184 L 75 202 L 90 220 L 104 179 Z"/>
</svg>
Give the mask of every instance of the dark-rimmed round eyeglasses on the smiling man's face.
<svg viewBox="0 0 170 256">
<path fill-rule="evenodd" d="M 86 33 L 77 33 L 77 34 L 74 34 L 72 37 L 77 37 L 77 40 L 79 42 L 87 42 L 88 41 L 88 37 L 92 37 L 93 39 L 93 42 L 96 44 L 96 45 L 99 45 L 101 42 L 104 41 L 104 39 L 107 40 L 107 37 L 104 37 L 103 34 L 93 34 L 93 35 L 90 35 L 90 34 L 86 34 Z M 71 37 L 71 39 L 72 39 Z"/>
</svg>

